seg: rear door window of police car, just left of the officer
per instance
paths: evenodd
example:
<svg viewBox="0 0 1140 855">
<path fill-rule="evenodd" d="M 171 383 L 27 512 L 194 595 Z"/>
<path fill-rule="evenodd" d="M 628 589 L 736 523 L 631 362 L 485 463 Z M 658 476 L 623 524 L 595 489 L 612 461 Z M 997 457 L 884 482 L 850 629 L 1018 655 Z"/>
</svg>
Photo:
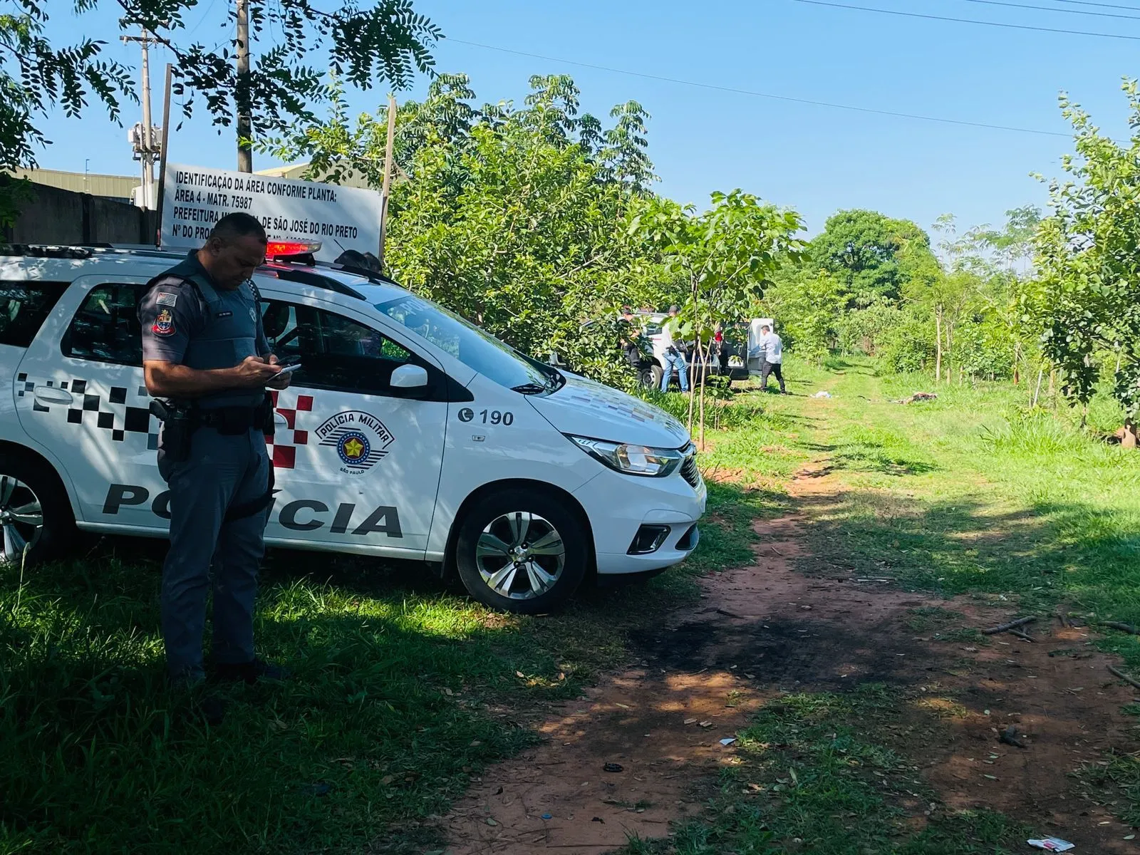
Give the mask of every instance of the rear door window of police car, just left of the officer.
<svg viewBox="0 0 1140 855">
<path fill-rule="evenodd" d="M 64 334 L 64 356 L 116 365 L 142 365 L 138 285 L 91 288 Z"/>
</svg>

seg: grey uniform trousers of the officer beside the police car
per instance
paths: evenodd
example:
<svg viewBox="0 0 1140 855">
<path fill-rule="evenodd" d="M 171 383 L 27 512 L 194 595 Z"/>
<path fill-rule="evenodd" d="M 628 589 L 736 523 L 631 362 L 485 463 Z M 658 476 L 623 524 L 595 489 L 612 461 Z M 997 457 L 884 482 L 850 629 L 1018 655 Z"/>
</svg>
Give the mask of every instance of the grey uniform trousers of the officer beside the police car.
<svg viewBox="0 0 1140 855">
<path fill-rule="evenodd" d="M 189 459 L 164 462 L 170 484 L 170 552 L 162 568 L 162 637 L 174 679 L 203 676 L 202 636 L 213 569 L 212 659 L 253 659 L 253 603 L 264 555 L 269 510 L 226 522 L 230 506 L 254 502 L 269 484 L 266 439 L 251 429 L 236 437 L 199 427 Z"/>
</svg>

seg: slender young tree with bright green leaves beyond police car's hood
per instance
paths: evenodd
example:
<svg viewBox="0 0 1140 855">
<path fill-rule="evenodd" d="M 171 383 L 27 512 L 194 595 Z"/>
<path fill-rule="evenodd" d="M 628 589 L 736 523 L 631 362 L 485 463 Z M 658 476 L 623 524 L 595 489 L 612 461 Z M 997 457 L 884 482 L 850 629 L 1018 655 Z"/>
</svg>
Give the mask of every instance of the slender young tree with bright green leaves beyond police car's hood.
<svg viewBox="0 0 1140 855">
<path fill-rule="evenodd" d="M 720 320 L 744 316 L 764 296 L 781 260 L 799 258 L 804 225 L 795 211 L 780 210 L 735 189 L 714 193 L 712 207 L 697 214 L 692 205 L 654 197 L 634 214 L 629 234 L 656 246 L 666 264 L 684 276 L 687 300 L 677 332 L 692 334 L 703 365 L 706 347 Z M 703 380 L 703 378 L 702 378 Z M 705 383 L 689 396 L 689 430 L 700 386 L 700 442 L 705 445 Z"/>
</svg>

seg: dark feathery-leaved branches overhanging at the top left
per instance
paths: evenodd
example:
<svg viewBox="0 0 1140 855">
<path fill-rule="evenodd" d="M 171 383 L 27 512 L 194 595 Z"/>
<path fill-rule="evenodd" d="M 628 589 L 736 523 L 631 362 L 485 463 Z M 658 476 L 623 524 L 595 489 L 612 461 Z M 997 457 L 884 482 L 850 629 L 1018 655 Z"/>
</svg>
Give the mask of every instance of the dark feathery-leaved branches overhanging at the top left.
<svg viewBox="0 0 1140 855">
<path fill-rule="evenodd" d="M 74 8 L 90 11 L 99 1 L 75 0 Z M 238 48 L 236 31 L 220 47 L 188 42 L 186 14 L 198 0 L 116 0 L 116 6 L 121 30 L 141 27 L 173 51 L 173 89 L 186 96 L 187 116 L 195 99 L 202 98 L 219 127 L 249 116 L 253 137 L 282 132 L 299 120 L 312 121 L 310 105 L 326 93 L 326 71 L 361 89 L 382 80 L 397 88 L 408 85 L 416 71 L 432 71 L 429 49 L 442 35 L 413 10 L 410 0 L 374 0 L 363 8 L 345 2 L 333 11 L 315 8 L 312 0 L 247 2 L 247 47 L 255 48 L 259 40 L 275 43 L 256 54 L 245 74 L 238 74 L 231 62 Z M 78 117 L 93 93 L 117 121 L 121 99 L 136 98 L 131 70 L 101 58 L 105 41 L 83 39 L 55 48 L 44 35 L 44 0 L 18 5 L 19 14 L 0 16 L 0 47 L 7 49 L 0 51 L 0 168 L 5 169 L 35 165 L 35 150 L 49 141 L 35 121 L 48 109 L 58 105 Z M 234 19 L 233 6 L 229 17 Z M 0 194 L 0 204 L 3 197 Z M 10 204 L 10 194 L 8 199 Z"/>
</svg>

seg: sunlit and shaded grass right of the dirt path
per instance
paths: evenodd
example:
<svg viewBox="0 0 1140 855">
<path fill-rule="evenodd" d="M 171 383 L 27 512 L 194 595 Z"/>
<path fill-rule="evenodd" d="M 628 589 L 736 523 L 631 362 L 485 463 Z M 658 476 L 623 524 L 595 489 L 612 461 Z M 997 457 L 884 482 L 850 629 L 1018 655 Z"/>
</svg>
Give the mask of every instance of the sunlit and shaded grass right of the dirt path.
<svg viewBox="0 0 1140 855">
<path fill-rule="evenodd" d="M 848 488 L 817 508 L 817 545 L 841 537 L 852 570 L 905 587 L 1140 620 L 1140 458 L 1070 415 L 1027 414 L 1024 388 L 943 385 L 936 401 L 890 402 L 922 389 L 857 360 L 838 376 L 805 446 Z M 813 408 L 788 404 L 801 418 Z M 1140 648 L 1127 653 L 1140 666 Z"/>
</svg>

